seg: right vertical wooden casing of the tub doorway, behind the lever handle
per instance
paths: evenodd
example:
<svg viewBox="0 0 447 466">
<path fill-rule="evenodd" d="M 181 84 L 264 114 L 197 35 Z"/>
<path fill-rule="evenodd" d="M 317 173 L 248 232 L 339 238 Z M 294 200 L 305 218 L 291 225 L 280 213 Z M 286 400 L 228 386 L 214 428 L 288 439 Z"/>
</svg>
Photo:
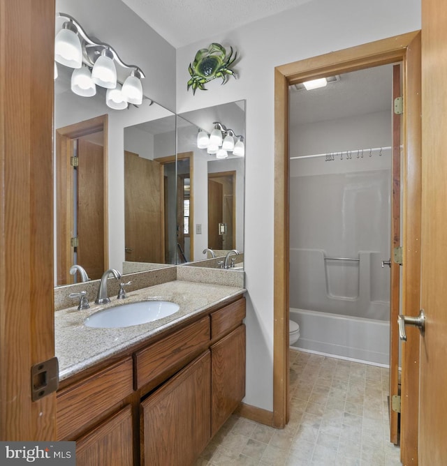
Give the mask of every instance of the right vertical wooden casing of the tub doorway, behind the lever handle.
<svg viewBox="0 0 447 466">
<path fill-rule="evenodd" d="M 420 230 L 421 230 L 421 66 L 420 33 L 414 38 L 404 60 L 404 224 L 402 270 L 402 309 L 417 316 L 420 310 Z M 404 465 L 418 464 L 418 399 L 420 334 L 406 326 L 407 343 L 402 352 L 402 413 L 400 424 L 401 460 Z"/>
</svg>

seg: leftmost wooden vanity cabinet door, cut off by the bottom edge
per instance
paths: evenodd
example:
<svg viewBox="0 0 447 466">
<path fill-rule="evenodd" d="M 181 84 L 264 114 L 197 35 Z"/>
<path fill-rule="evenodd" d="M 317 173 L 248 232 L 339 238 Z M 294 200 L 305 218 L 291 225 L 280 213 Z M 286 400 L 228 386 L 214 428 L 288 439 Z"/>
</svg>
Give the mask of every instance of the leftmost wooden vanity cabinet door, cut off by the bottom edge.
<svg viewBox="0 0 447 466">
<path fill-rule="evenodd" d="M 76 466 L 98 465 L 133 465 L 130 405 L 76 441 Z"/>
</svg>

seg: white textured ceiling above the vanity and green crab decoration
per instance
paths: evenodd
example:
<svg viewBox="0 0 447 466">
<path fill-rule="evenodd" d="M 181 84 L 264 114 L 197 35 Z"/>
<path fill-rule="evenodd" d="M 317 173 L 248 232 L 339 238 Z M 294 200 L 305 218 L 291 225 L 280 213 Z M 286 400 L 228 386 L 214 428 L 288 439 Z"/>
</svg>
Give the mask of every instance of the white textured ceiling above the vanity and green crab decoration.
<svg viewBox="0 0 447 466">
<path fill-rule="evenodd" d="M 122 0 L 175 48 L 312 0 Z"/>
</svg>

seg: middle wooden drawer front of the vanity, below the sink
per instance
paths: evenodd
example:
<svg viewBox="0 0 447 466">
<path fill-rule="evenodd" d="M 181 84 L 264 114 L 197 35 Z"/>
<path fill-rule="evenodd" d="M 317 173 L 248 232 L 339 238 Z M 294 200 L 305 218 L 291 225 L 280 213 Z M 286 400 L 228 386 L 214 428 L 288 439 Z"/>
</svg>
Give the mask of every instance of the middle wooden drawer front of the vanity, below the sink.
<svg viewBox="0 0 447 466">
<path fill-rule="evenodd" d="M 163 382 L 210 343 L 210 319 L 195 322 L 135 354 L 135 389 Z"/>
</svg>

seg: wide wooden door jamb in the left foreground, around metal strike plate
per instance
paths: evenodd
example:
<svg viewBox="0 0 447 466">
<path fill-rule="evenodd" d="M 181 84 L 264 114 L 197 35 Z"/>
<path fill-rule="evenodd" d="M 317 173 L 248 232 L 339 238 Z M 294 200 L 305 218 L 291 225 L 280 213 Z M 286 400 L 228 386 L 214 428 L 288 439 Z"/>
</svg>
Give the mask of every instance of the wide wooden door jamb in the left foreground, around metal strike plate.
<svg viewBox="0 0 447 466">
<path fill-rule="evenodd" d="M 0 12 L 0 440 L 52 440 L 55 393 L 31 401 L 31 366 L 54 356 L 54 2 Z"/>
</svg>

